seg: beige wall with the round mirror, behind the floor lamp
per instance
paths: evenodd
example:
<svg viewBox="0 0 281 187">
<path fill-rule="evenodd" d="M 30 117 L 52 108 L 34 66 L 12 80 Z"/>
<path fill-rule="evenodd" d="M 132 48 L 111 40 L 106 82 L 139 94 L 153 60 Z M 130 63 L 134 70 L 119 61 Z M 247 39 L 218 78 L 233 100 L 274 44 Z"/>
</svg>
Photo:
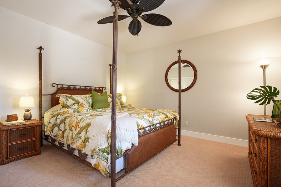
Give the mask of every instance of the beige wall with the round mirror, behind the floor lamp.
<svg viewBox="0 0 281 187">
<path fill-rule="evenodd" d="M 279 57 L 266 73 L 267 85 L 281 90 L 280 33 L 278 17 L 127 54 L 127 103 L 178 111 L 178 93 L 167 87 L 164 77 L 180 49 L 181 59 L 192 62 L 198 71 L 194 87 L 182 93 L 182 129 L 247 140 L 245 115 L 264 113 L 263 106 L 246 98 L 263 85 L 263 71 L 252 60 Z M 267 115 L 272 106 L 267 105 Z"/>
</svg>

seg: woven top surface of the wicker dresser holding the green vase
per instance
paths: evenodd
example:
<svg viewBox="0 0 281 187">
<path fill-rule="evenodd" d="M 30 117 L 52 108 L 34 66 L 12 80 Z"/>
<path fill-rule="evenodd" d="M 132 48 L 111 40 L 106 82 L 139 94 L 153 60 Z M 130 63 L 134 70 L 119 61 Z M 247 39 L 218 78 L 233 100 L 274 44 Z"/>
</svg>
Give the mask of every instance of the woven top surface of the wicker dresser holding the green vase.
<svg viewBox="0 0 281 187">
<path fill-rule="evenodd" d="M 264 115 L 247 114 L 246 119 L 249 123 L 249 127 L 252 133 L 261 137 L 281 139 L 281 127 L 279 127 L 274 122 L 255 121 L 253 119 L 254 116 L 271 117 L 271 116 L 264 116 Z"/>
</svg>

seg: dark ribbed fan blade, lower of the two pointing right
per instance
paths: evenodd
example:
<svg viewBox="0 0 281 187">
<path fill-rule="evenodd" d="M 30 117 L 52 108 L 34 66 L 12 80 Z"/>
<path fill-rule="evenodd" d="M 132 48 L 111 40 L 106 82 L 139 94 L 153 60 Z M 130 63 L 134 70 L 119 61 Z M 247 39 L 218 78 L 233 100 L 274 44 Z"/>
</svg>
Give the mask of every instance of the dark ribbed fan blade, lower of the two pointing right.
<svg viewBox="0 0 281 187">
<path fill-rule="evenodd" d="M 145 14 L 147 18 L 141 18 L 143 21 L 155 26 L 169 26 L 172 25 L 171 20 L 161 14 Z"/>
</svg>

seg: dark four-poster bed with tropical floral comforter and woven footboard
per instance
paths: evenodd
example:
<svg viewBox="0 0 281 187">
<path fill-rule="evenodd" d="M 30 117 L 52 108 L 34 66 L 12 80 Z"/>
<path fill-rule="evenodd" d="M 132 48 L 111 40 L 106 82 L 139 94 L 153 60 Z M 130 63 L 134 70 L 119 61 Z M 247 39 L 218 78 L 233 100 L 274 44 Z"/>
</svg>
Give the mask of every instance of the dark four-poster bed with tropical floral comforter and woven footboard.
<svg viewBox="0 0 281 187">
<path fill-rule="evenodd" d="M 120 2 L 117 0 L 113 0 L 112 6 L 115 7 L 115 12 L 114 14 L 114 24 L 113 24 L 113 63 L 110 65 L 110 74 L 112 72 L 112 106 L 111 108 L 107 109 L 102 109 L 101 110 L 91 110 L 87 109 L 87 112 L 91 112 L 91 114 L 86 113 L 85 115 L 89 115 L 88 121 L 86 124 L 81 125 L 81 128 L 79 127 L 79 120 L 82 121 L 82 118 L 85 116 L 84 113 L 82 114 L 83 117 L 81 117 L 81 111 L 75 114 L 70 113 L 69 110 L 71 108 L 60 108 L 59 111 L 56 111 L 55 113 L 52 113 L 52 116 L 49 117 L 49 120 L 47 120 L 47 125 L 42 131 L 44 132 L 44 137 L 42 136 L 42 139 L 45 139 L 46 141 L 52 143 L 53 145 L 62 148 L 64 152 L 69 152 L 74 156 L 77 160 L 80 160 L 88 165 L 94 166 L 96 169 L 98 169 L 100 163 L 95 162 L 93 163 L 93 160 L 102 160 L 105 158 L 104 154 L 100 154 L 98 151 L 103 152 L 106 151 L 108 155 L 111 155 L 109 160 L 111 160 L 110 163 L 108 163 L 108 166 L 110 166 L 111 171 L 116 171 L 116 159 L 121 160 L 124 162 L 124 168 L 125 168 L 125 173 L 116 178 L 116 172 L 110 172 L 106 173 L 104 172 L 104 175 L 109 175 L 111 178 L 111 187 L 115 186 L 115 182 L 128 173 L 130 173 L 132 170 L 136 169 L 138 166 L 141 164 L 145 163 L 148 161 L 150 158 L 158 154 L 160 151 L 164 150 L 174 142 L 178 141 L 178 145 L 180 146 L 180 115 L 178 115 L 175 111 L 168 111 L 167 113 L 164 113 L 163 111 L 152 111 L 153 114 L 151 114 L 151 110 L 153 109 L 130 109 L 127 107 L 120 107 L 116 105 L 116 80 L 117 80 L 117 27 L 118 27 L 118 12 L 117 8 L 119 8 Z M 51 107 L 57 106 L 59 103 L 61 103 L 63 97 L 73 97 L 74 96 L 79 96 L 83 97 L 83 100 L 87 97 L 87 95 L 90 95 L 93 91 L 96 91 L 97 93 L 104 93 L 103 91 L 106 89 L 105 87 L 96 87 L 96 86 L 83 86 L 83 85 L 67 85 L 67 84 L 56 84 L 53 83 L 52 86 L 56 87 L 56 91 L 51 94 L 42 94 L 42 46 L 38 47 L 37 49 L 40 50 L 39 52 L 39 113 L 40 113 L 40 121 L 42 120 L 42 96 L 51 96 Z M 180 64 L 180 52 L 181 50 L 178 51 L 179 53 L 179 64 Z M 112 67 L 112 70 L 111 70 Z M 180 90 L 180 69 L 179 69 L 179 90 Z M 69 96 L 70 95 L 70 96 Z M 90 97 L 90 96 L 89 96 Z M 77 99 L 77 98 L 76 98 Z M 93 98 L 92 98 L 93 99 Z M 66 101 L 67 102 L 67 101 Z M 89 101 L 91 103 L 91 101 Z M 61 103 L 62 104 L 62 103 Z M 180 114 L 180 91 L 179 91 L 179 114 Z M 77 112 L 76 109 L 72 109 Z M 80 110 L 80 109 L 79 109 Z M 90 111 L 91 110 L 91 111 Z M 155 110 L 155 109 L 154 109 Z M 94 112 L 94 114 L 92 114 Z M 93 120 L 95 117 L 99 115 L 104 115 L 105 113 L 111 113 L 111 128 L 108 130 L 108 132 L 111 133 L 108 134 L 108 146 L 107 147 L 97 147 L 100 149 L 95 149 L 95 150 L 86 150 L 87 143 L 89 142 L 89 136 L 87 134 L 87 131 L 90 129 L 90 123 L 89 120 Z M 122 150 L 121 153 L 118 150 L 119 149 L 119 144 L 116 147 L 116 112 L 118 113 L 129 113 L 131 116 L 133 116 L 133 113 L 139 113 L 143 117 L 143 119 L 138 118 L 136 119 L 136 123 L 138 124 L 138 120 L 143 120 L 143 121 L 149 121 L 147 119 L 152 116 L 160 116 L 161 114 L 164 115 L 164 117 L 159 117 L 155 121 L 150 120 L 150 124 L 146 125 L 145 122 L 142 123 L 141 125 L 138 124 L 137 128 L 137 133 L 138 133 L 138 146 L 135 146 L 131 144 L 131 146 L 126 146 L 125 150 Z M 101 114 L 102 113 L 102 114 Z M 73 118 L 75 116 L 76 119 Z M 93 117 L 94 116 L 94 117 Z M 144 117 L 146 116 L 146 118 Z M 160 119 L 161 118 L 161 119 Z M 83 118 L 84 120 L 85 118 Z M 67 121 L 68 120 L 68 121 Z M 72 121 L 73 120 L 73 121 Z M 76 120 L 76 121 L 75 121 Z M 78 121 L 77 121 L 78 120 Z M 62 122 L 61 122 L 62 121 Z M 73 123 L 78 124 L 77 126 L 74 126 Z M 140 122 L 139 122 L 140 123 Z M 62 126 L 61 126 L 62 125 Z M 69 132 L 67 132 L 67 126 L 69 127 Z M 75 132 L 75 137 L 73 140 L 72 138 L 69 138 L 69 136 L 65 137 L 66 133 L 73 133 L 71 132 L 71 129 L 73 130 L 77 128 L 78 132 Z M 62 128 L 62 129 L 61 129 Z M 80 129 L 79 129 L 80 128 Z M 56 133 L 54 133 L 56 132 Z M 85 135 L 82 137 L 79 137 L 77 139 L 77 136 L 81 133 L 84 133 Z M 118 137 L 117 137 L 118 138 Z M 67 141 L 63 141 L 63 139 L 66 139 Z M 76 143 L 80 142 L 80 146 L 71 146 L 75 144 L 71 143 Z M 69 143 L 71 141 L 71 143 Z M 63 149 L 65 148 L 65 149 Z M 81 149 L 80 149 L 81 148 Z M 108 149 L 107 149 L 108 148 Z M 117 148 L 117 150 L 116 150 Z M 117 152 L 116 152 L 117 151 Z M 98 152 L 98 153 L 97 153 Z M 87 154 L 90 153 L 90 154 Z M 116 156 L 114 156 L 116 155 Z M 91 163 L 89 163 L 89 160 L 91 160 Z M 117 161 L 118 162 L 118 161 Z M 98 166 L 97 166 L 98 165 Z M 97 167 L 96 167 L 97 166 Z M 106 168 L 107 169 L 107 168 Z"/>
</svg>

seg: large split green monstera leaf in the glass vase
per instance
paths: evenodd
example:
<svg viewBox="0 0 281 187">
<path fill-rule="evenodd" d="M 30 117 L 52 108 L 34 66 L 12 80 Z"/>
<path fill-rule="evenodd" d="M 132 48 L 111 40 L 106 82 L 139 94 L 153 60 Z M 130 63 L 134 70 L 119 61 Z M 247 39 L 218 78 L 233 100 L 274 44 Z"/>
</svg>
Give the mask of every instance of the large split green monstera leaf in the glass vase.
<svg viewBox="0 0 281 187">
<path fill-rule="evenodd" d="M 254 103 L 259 105 L 269 104 L 271 100 L 274 100 L 278 96 L 279 90 L 272 86 L 260 86 L 261 88 L 255 88 L 247 94 L 247 98 L 250 100 L 257 100 Z"/>
</svg>

